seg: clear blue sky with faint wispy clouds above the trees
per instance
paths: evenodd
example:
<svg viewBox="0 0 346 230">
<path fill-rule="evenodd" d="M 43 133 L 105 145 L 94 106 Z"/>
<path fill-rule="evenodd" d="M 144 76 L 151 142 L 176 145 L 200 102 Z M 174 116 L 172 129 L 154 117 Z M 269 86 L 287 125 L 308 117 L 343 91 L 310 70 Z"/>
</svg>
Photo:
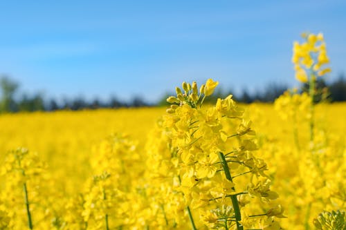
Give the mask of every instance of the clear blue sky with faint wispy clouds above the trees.
<svg viewBox="0 0 346 230">
<path fill-rule="evenodd" d="M 183 81 L 298 85 L 291 50 L 323 32 L 346 71 L 346 1 L 1 1 L 0 73 L 29 93 L 155 102 Z"/>
</svg>

